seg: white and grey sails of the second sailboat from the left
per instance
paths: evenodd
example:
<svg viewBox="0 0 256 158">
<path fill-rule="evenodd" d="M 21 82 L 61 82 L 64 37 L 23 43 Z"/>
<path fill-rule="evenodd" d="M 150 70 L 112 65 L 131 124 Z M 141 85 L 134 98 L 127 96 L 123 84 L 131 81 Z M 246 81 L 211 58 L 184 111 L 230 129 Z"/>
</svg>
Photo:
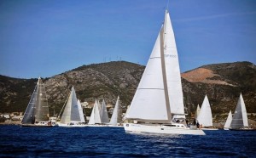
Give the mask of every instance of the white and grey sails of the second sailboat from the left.
<svg viewBox="0 0 256 158">
<path fill-rule="evenodd" d="M 61 116 L 61 124 L 68 124 L 71 122 L 81 122 L 79 104 L 74 87 L 71 89 L 71 93 L 67 99 L 67 104 L 65 105 L 64 112 Z"/>
</svg>

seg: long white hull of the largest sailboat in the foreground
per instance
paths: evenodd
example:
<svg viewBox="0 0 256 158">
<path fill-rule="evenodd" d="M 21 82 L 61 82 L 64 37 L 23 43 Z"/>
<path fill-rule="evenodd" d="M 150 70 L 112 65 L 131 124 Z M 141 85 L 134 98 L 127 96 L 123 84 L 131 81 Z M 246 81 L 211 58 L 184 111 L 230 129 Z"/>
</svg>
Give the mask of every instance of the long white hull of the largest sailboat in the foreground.
<svg viewBox="0 0 256 158">
<path fill-rule="evenodd" d="M 167 127 L 164 125 L 155 124 L 134 124 L 124 123 L 126 133 L 162 133 L 162 134 L 192 134 L 206 135 L 200 129 L 190 129 L 188 127 Z"/>
</svg>

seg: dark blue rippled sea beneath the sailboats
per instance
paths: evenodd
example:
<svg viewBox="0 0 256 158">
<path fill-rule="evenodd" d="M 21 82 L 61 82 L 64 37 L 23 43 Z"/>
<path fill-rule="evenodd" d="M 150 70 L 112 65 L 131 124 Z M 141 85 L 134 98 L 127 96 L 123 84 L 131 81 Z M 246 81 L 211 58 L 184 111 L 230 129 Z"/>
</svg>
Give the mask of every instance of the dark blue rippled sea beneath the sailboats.
<svg viewBox="0 0 256 158">
<path fill-rule="evenodd" d="M 0 157 L 256 157 L 256 131 L 131 134 L 121 127 L 0 126 Z"/>
</svg>

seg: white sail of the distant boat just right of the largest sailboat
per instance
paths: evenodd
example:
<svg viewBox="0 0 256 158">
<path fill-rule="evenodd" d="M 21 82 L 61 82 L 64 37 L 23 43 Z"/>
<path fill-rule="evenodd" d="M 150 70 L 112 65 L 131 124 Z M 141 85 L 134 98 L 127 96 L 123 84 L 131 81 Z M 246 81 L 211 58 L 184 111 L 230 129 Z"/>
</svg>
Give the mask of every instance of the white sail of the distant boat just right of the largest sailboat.
<svg viewBox="0 0 256 158">
<path fill-rule="evenodd" d="M 212 110 L 207 95 L 201 105 L 197 121 L 199 121 L 203 127 L 212 127 Z"/>
</svg>

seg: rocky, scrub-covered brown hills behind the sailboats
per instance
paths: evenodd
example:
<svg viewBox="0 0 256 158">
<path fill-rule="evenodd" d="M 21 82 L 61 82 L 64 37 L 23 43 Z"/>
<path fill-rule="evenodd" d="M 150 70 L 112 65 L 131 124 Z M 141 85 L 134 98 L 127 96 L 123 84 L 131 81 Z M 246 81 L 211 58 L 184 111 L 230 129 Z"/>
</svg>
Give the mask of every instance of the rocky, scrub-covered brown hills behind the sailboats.
<svg viewBox="0 0 256 158">
<path fill-rule="evenodd" d="M 72 86 L 82 101 L 93 104 L 105 99 L 114 104 L 120 96 L 123 111 L 131 103 L 144 66 L 125 61 L 83 65 L 79 68 L 44 78 L 51 114 L 58 113 Z M 37 79 L 0 76 L 0 112 L 24 111 Z M 248 113 L 256 113 L 256 66 L 249 62 L 204 65 L 182 74 L 183 96 L 189 116 L 207 94 L 216 118 L 234 111 L 240 93 Z M 217 119 L 218 120 L 218 119 Z M 256 120 L 256 119 L 255 119 Z"/>
</svg>

